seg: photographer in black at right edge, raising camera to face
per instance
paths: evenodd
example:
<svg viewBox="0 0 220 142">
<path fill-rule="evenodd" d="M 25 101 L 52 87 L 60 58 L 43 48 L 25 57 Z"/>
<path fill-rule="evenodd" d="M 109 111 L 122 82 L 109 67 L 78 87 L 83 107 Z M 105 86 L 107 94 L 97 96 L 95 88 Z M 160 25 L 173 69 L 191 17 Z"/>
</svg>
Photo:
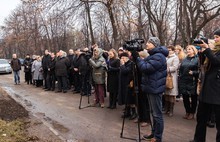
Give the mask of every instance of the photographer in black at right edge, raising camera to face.
<svg viewBox="0 0 220 142">
<path fill-rule="evenodd" d="M 216 120 L 216 142 L 220 141 L 220 29 L 214 32 L 214 40 L 215 47 L 213 49 L 210 49 L 204 41 L 199 44 L 202 48 L 202 56 L 205 58 L 203 62 L 205 74 L 199 95 L 194 140 L 190 142 L 206 141 L 206 125 L 212 109 L 214 109 Z"/>
</svg>

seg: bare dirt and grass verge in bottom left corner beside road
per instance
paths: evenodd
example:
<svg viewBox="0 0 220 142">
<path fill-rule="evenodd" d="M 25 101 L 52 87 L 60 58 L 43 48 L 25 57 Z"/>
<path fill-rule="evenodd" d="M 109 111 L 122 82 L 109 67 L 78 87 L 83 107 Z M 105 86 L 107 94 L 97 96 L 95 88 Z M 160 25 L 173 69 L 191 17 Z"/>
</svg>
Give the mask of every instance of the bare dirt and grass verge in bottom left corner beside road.
<svg viewBox="0 0 220 142">
<path fill-rule="evenodd" d="M 62 142 L 9 96 L 0 94 L 0 142 Z"/>
</svg>

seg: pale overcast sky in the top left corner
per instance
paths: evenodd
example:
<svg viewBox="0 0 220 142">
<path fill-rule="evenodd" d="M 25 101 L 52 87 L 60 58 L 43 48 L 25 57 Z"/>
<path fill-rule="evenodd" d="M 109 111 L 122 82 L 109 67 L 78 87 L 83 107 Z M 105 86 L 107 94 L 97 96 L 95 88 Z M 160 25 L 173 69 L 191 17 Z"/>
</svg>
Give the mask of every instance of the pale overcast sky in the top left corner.
<svg viewBox="0 0 220 142">
<path fill-rule="evenodd" d="M 21 3 L 20 0 L 0 0 L 0 25 L 4 19 Z"/>
</svg>

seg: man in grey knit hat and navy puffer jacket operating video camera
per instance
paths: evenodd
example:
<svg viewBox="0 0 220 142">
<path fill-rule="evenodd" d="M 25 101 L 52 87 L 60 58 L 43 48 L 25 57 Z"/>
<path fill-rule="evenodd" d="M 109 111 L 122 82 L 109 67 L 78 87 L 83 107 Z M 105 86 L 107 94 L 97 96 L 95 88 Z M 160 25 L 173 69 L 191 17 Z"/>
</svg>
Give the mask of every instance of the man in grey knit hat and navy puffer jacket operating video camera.
<svg viewBox="0 0 220 142">
<path fill-rule="evenodd" d="M 146 43 L 150 56 L 141 59 L 136 51 L 132 51 L 138 70 L 142 73 L 141 89 L 147 94 L 153 116 L 152 133 L 143 138 L 151 142 L 161 142 L 164 129 L 162 114 L 162 93 L 165 91 L 168 50 L 160 46 L 158 37 L 150 37 Z"/>
</svg>

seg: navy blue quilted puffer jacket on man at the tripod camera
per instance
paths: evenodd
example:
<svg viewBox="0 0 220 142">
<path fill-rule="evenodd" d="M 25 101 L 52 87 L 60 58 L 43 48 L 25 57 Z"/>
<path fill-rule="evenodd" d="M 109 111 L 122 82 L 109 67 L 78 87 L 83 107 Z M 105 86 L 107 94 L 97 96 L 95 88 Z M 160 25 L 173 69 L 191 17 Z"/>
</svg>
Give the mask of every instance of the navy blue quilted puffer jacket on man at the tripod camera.
<svg viewBox="0 0 220 142">
<path fill-rule="evenodd" d="M 141 89 L 147 94 L 160 94 L 165 91 L 169 51 L 166 47 L 156 47 L 148 51 L 150 56 L 137 59 L 137 66 L 142 73 Z"/>
</svg>

